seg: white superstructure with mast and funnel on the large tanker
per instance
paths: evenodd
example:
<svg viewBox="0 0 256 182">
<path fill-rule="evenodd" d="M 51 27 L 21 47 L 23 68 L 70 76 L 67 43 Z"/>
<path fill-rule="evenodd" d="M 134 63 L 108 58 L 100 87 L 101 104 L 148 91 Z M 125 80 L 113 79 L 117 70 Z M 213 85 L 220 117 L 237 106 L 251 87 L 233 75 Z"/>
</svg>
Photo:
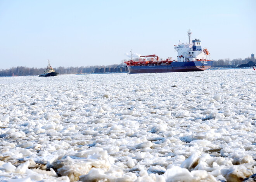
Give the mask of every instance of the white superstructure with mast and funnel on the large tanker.
<svg viewBox="0 0 256 182">
<path fill-rule="evenodd" d="M 206 48 L 202 48 L 199 39 L 192 40 L 190 30 L 187 31 L 189 36 L 189 43 L 179 43 L 174 48 L 178 52 L 177 61 L 207 61 L 209 52 Z"/>
</svg>

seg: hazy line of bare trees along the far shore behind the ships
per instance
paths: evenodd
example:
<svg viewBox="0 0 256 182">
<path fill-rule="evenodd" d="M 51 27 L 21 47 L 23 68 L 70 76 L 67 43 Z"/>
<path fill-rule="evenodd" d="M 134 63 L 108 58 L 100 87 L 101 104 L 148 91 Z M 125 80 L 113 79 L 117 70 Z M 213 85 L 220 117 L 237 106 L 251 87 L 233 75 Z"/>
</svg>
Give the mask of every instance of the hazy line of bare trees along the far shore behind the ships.
<svg viewBox="0 0 256 182">
<path fill-rule="evenodd" d="M 106 68 L 106 67 L 119 67 L 119 66 L 125 66 L 124 61 L 127 60 L 122 60 L 121 64 L 115 64 L 115 65 L 107 65 L 107 66 L 76 66 L 76 67 L 64 67 L 64 66 L 59 66 L 57 68 L 54 68 L 56 72 L 59 74 L 76 74 L 76 73 L 91 73 L 92 71 L 95 70 L 95 68 Z M 228 65 L 241 65 L 241 64 L 246 64 L 249 61 L 251 61 L 251 58 L 245 58 L 244 60 L 240 59 L 220 59 L 218 61 L 213 62 L 212 67 L 216 66 L 228 66 Z M 0 77 L 11 77 L 11 76 L 27 76 L 27 75 L 40 75 L 45 71 L 45 68 L 28 68 L 26 66 L 17 66 L 17 67 L 12 67 L 9 69 L 0 69 Z"/>
</svg>

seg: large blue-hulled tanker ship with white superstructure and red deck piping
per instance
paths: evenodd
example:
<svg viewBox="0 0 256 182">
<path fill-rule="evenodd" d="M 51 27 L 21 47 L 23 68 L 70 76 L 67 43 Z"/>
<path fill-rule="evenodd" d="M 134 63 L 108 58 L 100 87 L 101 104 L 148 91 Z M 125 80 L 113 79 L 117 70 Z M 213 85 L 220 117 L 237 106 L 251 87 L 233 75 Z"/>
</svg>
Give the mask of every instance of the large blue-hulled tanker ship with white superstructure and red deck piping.
<svg viewBox="0 0 256 182">
<path fill-rule="evenodd" d="M 209 60 L 209 51 L 202 48 L 201 41 L 195 39 L 191 41 L 190 30 L 187 31 L 189 43 L 179 43 L 174 45 L 174 49 L 178 52 L 177 60 L 167 58 L 159 60 L 159 56 L 152 54 L 140 56 L 137 61 L 125 61 L 130 74 L 132 73 L 165 73 L 165 72 L 184 72 L 184 71 L 204 71 L 213 65 L 213 61 Z M 151 57 L 149 60 L 145 57 Z"/>
</svg>

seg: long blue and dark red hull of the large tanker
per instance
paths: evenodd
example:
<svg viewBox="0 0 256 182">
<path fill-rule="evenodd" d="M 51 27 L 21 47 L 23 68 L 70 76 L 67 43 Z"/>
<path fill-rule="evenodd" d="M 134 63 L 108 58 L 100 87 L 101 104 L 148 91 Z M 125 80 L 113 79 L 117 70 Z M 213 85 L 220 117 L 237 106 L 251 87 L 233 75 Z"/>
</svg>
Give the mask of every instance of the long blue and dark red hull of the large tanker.
<svg viewBox="0 0 256 182">
<path fill-rule="evenodd" d="M 169 65 L 128 65 L 130 74 L 133 73 L 168 73 L 186 71 L 204 71 L 213 65 L 213 61 L 172 62 Z"/>
</svg>

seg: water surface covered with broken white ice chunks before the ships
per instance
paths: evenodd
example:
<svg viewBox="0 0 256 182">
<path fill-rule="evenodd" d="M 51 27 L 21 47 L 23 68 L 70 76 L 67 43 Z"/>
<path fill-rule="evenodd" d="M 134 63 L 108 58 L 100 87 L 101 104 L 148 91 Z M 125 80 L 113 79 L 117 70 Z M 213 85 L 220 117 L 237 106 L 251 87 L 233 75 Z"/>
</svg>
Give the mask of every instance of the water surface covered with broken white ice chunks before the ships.
<svg viewBox="0 0 256 182">
<path fill-rule="evenodd" d="M 255 75 L 2 77 L 0 181 L 242 181 L 256 173 Z"/>
</svg>

